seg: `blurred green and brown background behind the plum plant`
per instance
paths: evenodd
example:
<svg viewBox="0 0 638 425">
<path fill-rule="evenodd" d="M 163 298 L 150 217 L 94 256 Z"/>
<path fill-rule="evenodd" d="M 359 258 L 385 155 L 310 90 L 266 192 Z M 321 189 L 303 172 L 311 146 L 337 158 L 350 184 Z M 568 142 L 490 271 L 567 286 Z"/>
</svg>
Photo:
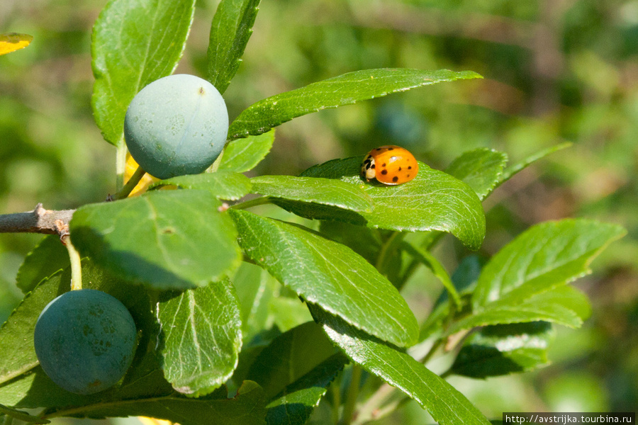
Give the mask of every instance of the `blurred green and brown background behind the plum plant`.
<svg viewBox="0 0 638 425">
<path fill-rule="evenodd" d="M 0 1 L 0 33 L 34 36 L 26 49 L 0 57 L 0 213 L 38 202 L 75 208 L 113 191 L 115 149 L 102 140 L 90 107 L 91 26 L 105 3 Z M 205 76 L 217 4 L 198 1 L 177 72 Z M 272 153 L 254 174 L 298 174 L 384 144 L 407 147 L 443 169 L 475 147 L 503 150 L 516 161 L 573 142 L 488 198 L 481 254 L 544 220 L 624 225 L 627 237 L 577 283 L 591 297 L 593 317 L 582 329 L 558 329 L 547 368 L 451 382 L 494 419 L 503 411 L 638 411 L 638 1 L 263 1 L 225 93 L 230 118 L 266 96 L 378 67 L 470 69 L 485 79 L 293 120 L 278 129 Z M 3 322 L 21 299 L 13 283 L 18 267 L 39 239 L 0 235 Z M 435 254 L 452 271 L 466 253 L 449 239 Z M 423 287 L 439 288 L 433 279 Z M 419 317 L 436 296 L 435 290 L 411 295 Z M 408 403 L 379 423 L 428 421 Z"/>
</svg>

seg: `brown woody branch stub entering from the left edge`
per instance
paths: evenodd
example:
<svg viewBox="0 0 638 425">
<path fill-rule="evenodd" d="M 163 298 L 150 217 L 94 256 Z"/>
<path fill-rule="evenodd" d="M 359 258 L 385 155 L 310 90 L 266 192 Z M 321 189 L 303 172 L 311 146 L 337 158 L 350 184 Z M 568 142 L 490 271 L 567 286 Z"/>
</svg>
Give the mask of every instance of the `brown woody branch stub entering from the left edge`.
<svg viewBox="0 0 638 425">
<path fill-rule="evenodd" d="M 69 221 L 75 210 L 45 210 L 41 203 L 33 211 L 0 215 L 0 233 L 69 234 Z"/>
</svg>

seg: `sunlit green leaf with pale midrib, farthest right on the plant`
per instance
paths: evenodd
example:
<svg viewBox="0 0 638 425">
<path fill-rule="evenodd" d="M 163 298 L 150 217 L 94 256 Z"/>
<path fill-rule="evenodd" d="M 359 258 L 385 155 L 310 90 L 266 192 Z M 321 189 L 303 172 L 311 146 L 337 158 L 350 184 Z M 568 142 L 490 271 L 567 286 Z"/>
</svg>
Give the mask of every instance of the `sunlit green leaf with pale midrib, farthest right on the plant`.
<svg viewBox="0 0 638 425">
<path fill-rule="evenodd" d="M 625 234 L 617 225 L 561 220 L 531 227 L 483 268 L 472 297 L 474 312 L 509 307 L 590 272 L 600 251 Z"/>
</svg>

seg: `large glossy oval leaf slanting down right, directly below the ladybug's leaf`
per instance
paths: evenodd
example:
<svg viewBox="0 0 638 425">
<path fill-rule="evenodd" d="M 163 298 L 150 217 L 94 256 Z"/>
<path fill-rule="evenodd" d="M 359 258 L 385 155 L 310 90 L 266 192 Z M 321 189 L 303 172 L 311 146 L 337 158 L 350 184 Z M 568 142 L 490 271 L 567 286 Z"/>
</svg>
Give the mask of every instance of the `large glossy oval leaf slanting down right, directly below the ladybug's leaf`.
<svg viewBox="0 0 638 425">
<path fill-rule="evenodd" d="M 245 255 L 307 302 L 398 346 L 418 336 L 414 314 L 386 278 L 347 246 L 308 229 L 230 210 Z"/>
</svg>

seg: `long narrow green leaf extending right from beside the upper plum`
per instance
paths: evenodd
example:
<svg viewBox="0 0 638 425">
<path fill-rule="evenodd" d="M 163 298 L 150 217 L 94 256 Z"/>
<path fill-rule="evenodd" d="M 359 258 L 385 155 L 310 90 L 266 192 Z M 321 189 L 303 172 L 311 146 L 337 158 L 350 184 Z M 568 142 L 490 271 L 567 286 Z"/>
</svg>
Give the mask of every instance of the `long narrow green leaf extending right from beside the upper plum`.
<svg viewBox="0 0 638 425">
<path fill-rule="evenodd" d="M 475 72 L 452 72 L 447 69 L 423 71 L 386 68 L 349 72 L 254 103 L 230 124 L 228 139 L 259 135 L 293 118 L 326 108 L 349 105 L 442 81 L 474 78 L 481 76 Z"/>
</svg>

